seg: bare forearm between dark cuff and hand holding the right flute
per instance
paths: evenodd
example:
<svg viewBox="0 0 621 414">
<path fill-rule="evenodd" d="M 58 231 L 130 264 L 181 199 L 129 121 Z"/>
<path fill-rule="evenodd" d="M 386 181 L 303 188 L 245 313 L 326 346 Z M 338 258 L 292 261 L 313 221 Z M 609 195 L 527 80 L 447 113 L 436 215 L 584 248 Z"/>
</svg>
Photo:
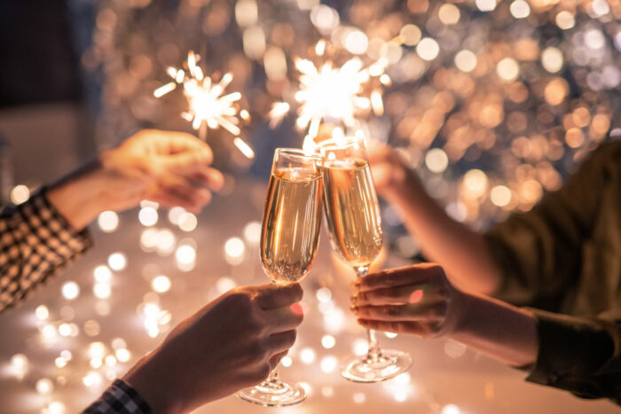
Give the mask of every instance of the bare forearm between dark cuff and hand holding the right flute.
<svg viewBox="0 0 621 414">
<path fill-rule="evenodd" d="M 460 293 L 459 321 L 449 337 L 513 366 L 534 363 L 538 333 L 530 311 L 485 296 Z"/>
</svg>

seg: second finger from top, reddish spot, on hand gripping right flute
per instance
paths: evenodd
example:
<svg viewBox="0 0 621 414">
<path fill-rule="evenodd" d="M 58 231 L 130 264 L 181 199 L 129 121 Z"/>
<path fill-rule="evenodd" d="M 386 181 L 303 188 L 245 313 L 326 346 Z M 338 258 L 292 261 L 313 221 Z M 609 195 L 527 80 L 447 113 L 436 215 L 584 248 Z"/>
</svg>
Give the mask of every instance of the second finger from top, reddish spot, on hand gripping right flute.
<svg viewBox="0 0 621 414">
<path fill-rule="evenodd" d="M 381 287 L 364 292 L 355 291 L 350 301 L 355 306 L 365 305 L 399 305 L 419 303 L 421 301 L 435 301 L 449 296 L 449 290 L 444 285 L 422 283 Z"/>
</svg>

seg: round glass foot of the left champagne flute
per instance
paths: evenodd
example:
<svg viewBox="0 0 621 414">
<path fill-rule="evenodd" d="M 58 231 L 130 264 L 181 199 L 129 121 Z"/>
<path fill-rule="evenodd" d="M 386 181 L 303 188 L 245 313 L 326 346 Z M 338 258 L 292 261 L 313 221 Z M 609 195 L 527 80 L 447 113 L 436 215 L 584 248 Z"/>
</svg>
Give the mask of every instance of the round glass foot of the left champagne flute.
<svg viewBox="0 0 621 414">
<path fill-rule="evenodd" d="M 284 407 L 299 404 L 306 399 L 306 391 L 299 384 L 279 379 L 263 381 L 256 387 L 244 388 L 236 395 L 244 401 L 265 407 Z"/>
</svg>

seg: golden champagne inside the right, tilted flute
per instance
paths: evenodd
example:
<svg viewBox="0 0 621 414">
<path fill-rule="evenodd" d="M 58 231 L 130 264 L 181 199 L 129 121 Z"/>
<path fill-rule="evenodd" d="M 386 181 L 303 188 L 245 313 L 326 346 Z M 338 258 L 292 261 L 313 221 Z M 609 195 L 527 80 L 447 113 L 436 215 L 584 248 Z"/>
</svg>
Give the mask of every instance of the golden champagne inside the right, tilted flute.
<svg viewBox="0 0 621 414">
<path fill-rule="evenodd" d="M 380 253 L 380 207 L 366 160 L 326 160 L 326 219 L 334 251 L 355 268 Z"/>
</svg>

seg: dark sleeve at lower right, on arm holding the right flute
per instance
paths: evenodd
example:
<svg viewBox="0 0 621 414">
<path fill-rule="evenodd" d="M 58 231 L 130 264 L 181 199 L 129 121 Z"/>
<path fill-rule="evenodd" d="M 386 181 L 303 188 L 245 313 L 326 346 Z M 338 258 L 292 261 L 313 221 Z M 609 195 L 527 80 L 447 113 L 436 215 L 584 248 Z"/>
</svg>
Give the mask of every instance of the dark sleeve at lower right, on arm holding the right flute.
<svg viewBox="0 0 621 414">
<path fill-rule="evenodd" d="M 600 373 L 616 355 L 614 324 L 591 317 L 529 310 L 537 324 L 538 355 L 532 366 L 523 367 L 530 371 L 526 379 L 584 398 L 610 398 L 607 376 Z"/>
</svg>

